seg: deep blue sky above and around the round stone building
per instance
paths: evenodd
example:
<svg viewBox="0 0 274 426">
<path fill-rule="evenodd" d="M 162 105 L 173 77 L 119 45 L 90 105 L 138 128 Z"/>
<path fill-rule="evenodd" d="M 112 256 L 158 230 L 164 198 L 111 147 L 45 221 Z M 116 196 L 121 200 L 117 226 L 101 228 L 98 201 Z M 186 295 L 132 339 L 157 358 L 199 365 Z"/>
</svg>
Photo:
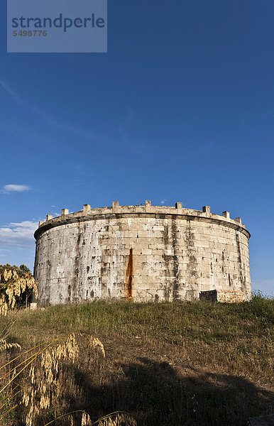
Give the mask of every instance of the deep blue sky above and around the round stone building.
<svg viewBox="0 0 274 426">
<path fill-rule="evenodd" d="M 108 53 L 6 53 L 1 2 L 0 263 L 32 269 L 33 230 L 62 208 L 180 201 L 242 218 L 271 293 L 273 0 L 108 9 Z"/>
</svg>

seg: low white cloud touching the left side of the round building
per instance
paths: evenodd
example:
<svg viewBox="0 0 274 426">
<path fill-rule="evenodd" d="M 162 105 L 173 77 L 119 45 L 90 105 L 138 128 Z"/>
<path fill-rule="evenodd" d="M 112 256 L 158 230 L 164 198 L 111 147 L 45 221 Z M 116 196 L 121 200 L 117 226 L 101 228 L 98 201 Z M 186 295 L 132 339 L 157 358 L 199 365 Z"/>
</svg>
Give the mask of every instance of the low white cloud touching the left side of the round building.
<svg viewBox="0 0 274 426">
<path fill-rule="evenodd" d="M 0 228 L 0 246 L 31 248 L 34 244 L 34 231 L 38 228 L 37 222 L 24 221 L 11 223 Z"/>
</svg>

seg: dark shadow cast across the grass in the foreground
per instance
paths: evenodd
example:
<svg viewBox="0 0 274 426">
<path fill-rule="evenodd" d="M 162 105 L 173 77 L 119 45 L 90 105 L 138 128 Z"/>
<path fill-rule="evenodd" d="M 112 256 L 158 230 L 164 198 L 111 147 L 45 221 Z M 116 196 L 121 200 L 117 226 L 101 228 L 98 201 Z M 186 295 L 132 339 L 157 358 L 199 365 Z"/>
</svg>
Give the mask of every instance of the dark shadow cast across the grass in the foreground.
<svg viewBox="0 0 274 426">
<path fill-rule="evenodd" d="M 247 417 L 273 409 L 273 393 L 245 378 L 194 368 L 182 376 L 168 363 L 146 358 L 119 364 L 111 385 L 92 385 L 86 373 L 77 368 L 74 373 L 84 398 L 67 395 L 67 402 L 72 410 L 86 410 L 93 421 L 121 410 L 133 415 L 138 426 L 241 426 Z"/>
</svg>

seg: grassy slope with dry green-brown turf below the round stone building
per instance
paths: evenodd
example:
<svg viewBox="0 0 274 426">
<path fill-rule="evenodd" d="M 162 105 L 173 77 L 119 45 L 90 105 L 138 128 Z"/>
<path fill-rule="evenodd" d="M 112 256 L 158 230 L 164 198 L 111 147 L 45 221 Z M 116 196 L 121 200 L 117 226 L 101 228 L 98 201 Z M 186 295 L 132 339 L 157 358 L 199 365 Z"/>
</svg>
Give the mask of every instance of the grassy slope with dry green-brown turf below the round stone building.
<svg viewBox="0 0 274 426">
<path fill-rule="evenodd" d="M 86 410 L 94 422 L 121 410 L 138 425 L 241 426 L 246 417 L 274 411 L 273 300 L 100 301 L 11 313 L 0 318 L 2 330 L 8 322 L 10 341 L 23 350 L 61 334 L 77 335 L 80 352 L 73 363 L 63 362 L 55 413 Z M 90 335 L 104 344 L 105 358 L 91 349 Z M 2 363 L 3 356 L 11 358 L 3 352 Z M 44 410 L 37 425 L 54 415 L 53 408 Z M 19 407 L 6 425 L 25 425 L 24 416 Z"/>
</svg>

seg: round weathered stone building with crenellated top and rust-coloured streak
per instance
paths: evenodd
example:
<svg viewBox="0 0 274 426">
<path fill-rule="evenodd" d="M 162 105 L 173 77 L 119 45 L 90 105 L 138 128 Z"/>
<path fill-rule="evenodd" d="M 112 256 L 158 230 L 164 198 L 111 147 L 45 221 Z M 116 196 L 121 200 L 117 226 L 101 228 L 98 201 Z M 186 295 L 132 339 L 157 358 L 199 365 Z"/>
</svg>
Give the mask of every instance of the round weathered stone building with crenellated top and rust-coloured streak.
<svg viewBox="0 0 274 426">
<path fill-rule="evenodd" d="M 123 206 L 47 216 L 35 231 L 41 304 L 119 298 L 219 301 L 251 296 L 248 238 L 241 219 L 176 207 Z"/>
</svg>

